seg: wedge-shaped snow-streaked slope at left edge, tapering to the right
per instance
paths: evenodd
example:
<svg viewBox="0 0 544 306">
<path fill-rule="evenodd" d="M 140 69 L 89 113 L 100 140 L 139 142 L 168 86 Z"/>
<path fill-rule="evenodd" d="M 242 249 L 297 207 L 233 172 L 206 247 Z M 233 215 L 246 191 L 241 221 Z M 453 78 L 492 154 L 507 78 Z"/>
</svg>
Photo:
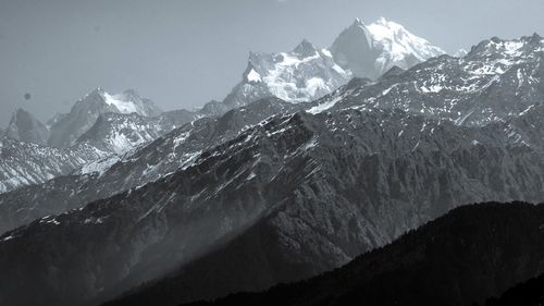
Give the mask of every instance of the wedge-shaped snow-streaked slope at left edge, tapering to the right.
<svg viewBox="0 0 544 306">
<path fill-rule="evenodd" d="M 0 149 L 0 194 L 69 174 L 109 155 L 89 145 L 58 149 L 11 138 L 4 138 Z"/>
</svg>

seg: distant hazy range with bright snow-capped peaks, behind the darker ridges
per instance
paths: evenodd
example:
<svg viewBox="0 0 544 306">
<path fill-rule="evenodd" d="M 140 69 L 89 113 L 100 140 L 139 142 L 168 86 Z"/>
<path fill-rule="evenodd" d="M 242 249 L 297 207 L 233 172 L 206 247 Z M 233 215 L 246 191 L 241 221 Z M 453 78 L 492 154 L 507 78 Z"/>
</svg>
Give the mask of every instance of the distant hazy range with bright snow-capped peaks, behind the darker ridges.
<svg viewBox="0 0 544 306">
<path fill-rule="evenodd" d="M 361 40 L 362 37 L 366 37 L 367 42 L 373 41 L 372 46 L 367 46 L 367 42 Z M 354 46 L 342 42 L 349 39 Z M 361 41 L 364 44 L 361 45 Z M 3 173 L 0 173 L 5 178 L 0 183 L 0 192 L 44 183 L 48 179 L 66 175 L 89 162 L 92 164 L 86 167 L 87 170 L 94 169 L 97 163 L 110 164 L 118 159 L 115 156 L 122 156 L 184 123 L 202 117 L 222 115 L 231 109 L 262 98 L 276 97 L 288 102 L 314 100 L 358 75 L 356 72 L 360 72 L 361 68 L 357 63 L 345 63 L 341 58 L 344 53 L 349 53 L 349 48 L 360 50 L 362 47 L 366 51 L 360 53 L 359 58 L 375 57 L 376 62 L 381 61 L 378 58 L 387 59 L 386 62 L 382 61 L 381 70 L 369 70 L 368 75 L 379 75 L 382 70 L 392 65 L 408 68 L 443 53 L 440 48 L 431 46 L 396 23 L 381 19 L 366 26 L 357 20 L 341 34 L 330 49 L 318 49 L 305 39 L 290 52 L 251 52 L 243 81 L 223 101 L 209 102 L 198 111 L 178 110 L 163 113 L 151 100 L 140 98 L 135 90 L 112 95 L 102 88 L 92 90 L 78 100 L 69 113 L 57 114 L 47 124 L 40 123 L 24 110 L 17 110 L 8 131 L 3 133 L 5 137 L 39 144 L 44 146 L 41 150 L 49 150 L 47 147 L 51 147 L 53 151 L 55 148 L 64 149 L 86 143 L 96 147 L 100 154 L 98 159 L 82 157 L 78 164 L 57 163 L 52 168 L 46 167 L 46 161 L 30 166 L 21 164 L 18 160 L 12 161 L 4 166 Z M 333 56 L 332 51 L 337 56 Z M 52 154 L 45 156 L 47 155 Z M 109 156 L 107 161 L 103 160 L 104 156 Z M 22 157 L 23 160 L 39 158 L 35 155 Z"/>
</svg>

